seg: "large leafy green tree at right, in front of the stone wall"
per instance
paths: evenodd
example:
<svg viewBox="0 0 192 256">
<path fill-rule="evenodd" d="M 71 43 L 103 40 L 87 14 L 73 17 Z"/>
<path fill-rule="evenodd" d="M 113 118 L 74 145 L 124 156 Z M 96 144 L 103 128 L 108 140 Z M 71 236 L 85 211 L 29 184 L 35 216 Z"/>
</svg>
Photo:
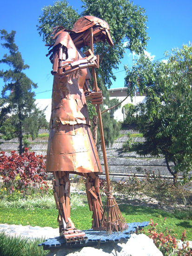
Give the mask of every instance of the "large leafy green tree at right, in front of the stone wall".
<svg viewBox="0 0 192 256">
<path fill-rule="evenodd" d="M 126 86 L 131 94 L 136 87 L 146 93 L 146 102 L 132 110 L 146 141 L 132 151 L 164 155 L 174 184 L 179 173 L 186 181 L 192 170 L 192 45 L 173 49 L 167 63 L 142 56 L 126 68 Z"/>
</svg>

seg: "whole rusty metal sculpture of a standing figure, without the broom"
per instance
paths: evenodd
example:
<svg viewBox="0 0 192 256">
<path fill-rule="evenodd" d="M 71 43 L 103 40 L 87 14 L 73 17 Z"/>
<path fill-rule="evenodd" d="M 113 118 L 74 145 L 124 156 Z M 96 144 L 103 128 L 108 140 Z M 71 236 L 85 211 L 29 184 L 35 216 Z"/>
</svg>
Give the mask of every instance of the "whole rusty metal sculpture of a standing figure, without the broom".
<svg viewBox="0 0 192 256">
<path fill-rule="evenodd" d="M 86 105 L 86 99 L 94 105 L 103 103 L 101 91 L 89 89 L 88 68 L 99 67 L 99 56 L 93 55 L 90 49 L 84 55 L 79 50 L 90 45 L 90 27 L 93 27 L 94 42 L 107 40 L 113 46 L 108 24 L 99 18 L 84 16 L 76 21 L 72 30 L 54 28 L 55 42 L 47 54 L 51 54 L 54 80 L 46 171 L 54 173 L 53 195 L 59 211 L 60 236 L 67 241 L 85 236 L 75 229 L 70 219 L 70 173 L 86 177 L 93 229 L 99 229 L 103 214 L 98 176 L 102 169 Z"/>
</svg>

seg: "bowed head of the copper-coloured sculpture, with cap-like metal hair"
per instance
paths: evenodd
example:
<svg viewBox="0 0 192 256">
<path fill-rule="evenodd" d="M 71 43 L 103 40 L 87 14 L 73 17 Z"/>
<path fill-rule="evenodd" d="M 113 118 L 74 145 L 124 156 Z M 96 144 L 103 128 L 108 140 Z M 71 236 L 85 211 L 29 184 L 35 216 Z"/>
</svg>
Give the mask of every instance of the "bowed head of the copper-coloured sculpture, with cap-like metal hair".
<svg viewBox="0 0 192 256">
<path fill-rule="evenodd" d="M 113 46 L 113 40 L 110 35 L 109 25 L 106 21 L 94 16 L 83 16 L 77 20 L 71 30 L 71 38 L 76 47 L 90 45 L 90 27 L 93 27 L 93 42 L 103 41 Z"/>
</svg>

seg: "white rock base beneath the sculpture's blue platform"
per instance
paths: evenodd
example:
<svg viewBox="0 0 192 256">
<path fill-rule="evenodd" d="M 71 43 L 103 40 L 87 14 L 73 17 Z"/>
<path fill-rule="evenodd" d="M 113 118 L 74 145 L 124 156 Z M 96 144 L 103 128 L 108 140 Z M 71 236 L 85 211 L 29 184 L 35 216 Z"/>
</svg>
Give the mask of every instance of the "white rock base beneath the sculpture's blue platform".
<svg viewBox="0 0 192 256">
<path fill-rule="evenodd" d="M 47 256 L 115 256 L 113 243 L 100 244 L 100 249 L 94 247 L 55 249 Z M 154 245 L 152 239 L 144 234 L 132 234 L 127 243 L 115 244 L 118 256 L 163 256 Z"/>
</svg>

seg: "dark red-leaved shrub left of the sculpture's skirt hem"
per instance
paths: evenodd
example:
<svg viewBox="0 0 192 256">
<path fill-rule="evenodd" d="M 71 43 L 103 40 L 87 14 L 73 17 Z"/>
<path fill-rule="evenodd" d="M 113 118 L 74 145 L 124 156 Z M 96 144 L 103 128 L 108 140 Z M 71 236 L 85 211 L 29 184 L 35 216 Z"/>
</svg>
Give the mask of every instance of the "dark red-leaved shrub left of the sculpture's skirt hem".
<svg viewBox="0 0 192 256">
<path fill-rule="evenodd" d="M 43 155 L 36 155 L 25 148 L 21 155 L 11 152 L 10 156 L 0 152 L 0 176 L 5 184 L 7 194 L 15 190 L 27 194 L 32 186 L 34 189 L 47 190 L 45 159 Z"/>
</svg>

